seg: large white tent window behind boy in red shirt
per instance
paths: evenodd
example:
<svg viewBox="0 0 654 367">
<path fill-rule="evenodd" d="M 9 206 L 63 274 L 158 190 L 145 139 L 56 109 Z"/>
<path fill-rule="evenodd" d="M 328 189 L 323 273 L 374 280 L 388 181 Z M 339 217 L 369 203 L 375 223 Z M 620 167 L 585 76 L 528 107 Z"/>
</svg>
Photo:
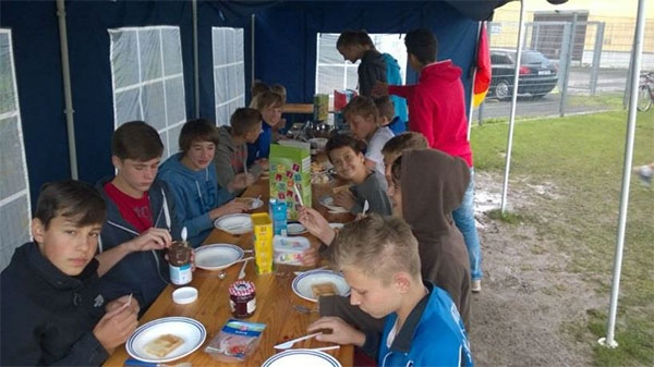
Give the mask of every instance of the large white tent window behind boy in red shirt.
<svg viewBox="0 0 654 367">
<path fill-rule="evenodd" d="M 179 150 L 186 121 L 180 28 L 109 29 L 114 127 L 143 120 L 161 135 L 164 158 Z"/>
</svg>

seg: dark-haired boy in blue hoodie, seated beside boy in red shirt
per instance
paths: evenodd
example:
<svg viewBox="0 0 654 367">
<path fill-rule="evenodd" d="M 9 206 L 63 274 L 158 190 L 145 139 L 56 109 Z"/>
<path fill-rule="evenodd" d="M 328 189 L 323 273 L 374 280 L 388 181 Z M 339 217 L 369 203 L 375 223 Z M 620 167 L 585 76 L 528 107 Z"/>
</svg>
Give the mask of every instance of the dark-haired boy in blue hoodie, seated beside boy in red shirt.
<svg viewBox="0 0 654 367">
<path fill-rule="evenodd" d="M 181 151 L 168 158 L 157 175 L 171 188 L 177 205 L 174 216 L 186 228 L 193 247 L 209 235 L 215 219 L 250 209 L 233 198 L 234 193 L 254 183 L 254 176 L 238 173 L 220 186 L 213 163 L 217 145 L 218 129 L 213 122 L 186 122 L 179 137 Z"/>
</svg>

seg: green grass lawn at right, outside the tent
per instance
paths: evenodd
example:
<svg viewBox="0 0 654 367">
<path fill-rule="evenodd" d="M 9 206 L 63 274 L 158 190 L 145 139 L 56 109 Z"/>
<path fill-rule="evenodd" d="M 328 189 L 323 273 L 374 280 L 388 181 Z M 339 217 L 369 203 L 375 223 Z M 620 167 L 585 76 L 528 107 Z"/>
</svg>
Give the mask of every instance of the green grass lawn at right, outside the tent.
<svg viewBox="0 0 654 367">
<path fill-rule="evenodd" d="M 602 97 L 602 103 L 621 99 Z M 472 130 L 477 171 L 504 172 L 508 125 L 484 124 Z M 511 187 L 552 183 L 556 200 L 491 217 L 509 223 L 528 221 L 540 236 L 553 240 L 554 250 L 571 257 L 566 271 L 579 273 L 606 298 L 606 308 L 591 310 L 584 320 L 562 326 L 571 338 L 594 352 L 595 366 L 654 365 L 654 187 L 630 185 L 620 297 L 617 348 L 597 344 L 606 337 L 608 302 L 616 246 L 619 199 L 627 136 L 627 112 L 604 112 L 517 122 L 508 200 Z M 654 161 L 654 110 L 639 112 L 633 166 Z M 500 175 L 501 176 L 501 175 Z M 534 207 L 532 209 L 529 209 Z M 544 248 L 534 248 L 537 254 Z M 556 290 L 553 290 L 556 293 Z"/>
</svg>

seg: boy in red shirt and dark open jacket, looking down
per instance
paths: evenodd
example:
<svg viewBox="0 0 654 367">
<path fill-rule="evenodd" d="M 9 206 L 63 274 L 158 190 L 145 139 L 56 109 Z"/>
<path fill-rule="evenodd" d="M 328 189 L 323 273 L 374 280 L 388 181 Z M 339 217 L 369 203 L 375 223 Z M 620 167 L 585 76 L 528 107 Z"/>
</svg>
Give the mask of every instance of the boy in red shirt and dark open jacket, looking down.
<svg viewBox="0 0 654 367">
<path fill-rule="evenodd" d="M 102 294 L 109 299 L 130 294 L 141 313 L 170 283 L 165 249 L 180 238 L 174 198 L 155 180 L 164 152 L 157 131 L 143 121 L 120 125 L 111 137 L 116 176 L 105 178 L 97 189 L 107 204 L 98 254 Z"/>
</svg>

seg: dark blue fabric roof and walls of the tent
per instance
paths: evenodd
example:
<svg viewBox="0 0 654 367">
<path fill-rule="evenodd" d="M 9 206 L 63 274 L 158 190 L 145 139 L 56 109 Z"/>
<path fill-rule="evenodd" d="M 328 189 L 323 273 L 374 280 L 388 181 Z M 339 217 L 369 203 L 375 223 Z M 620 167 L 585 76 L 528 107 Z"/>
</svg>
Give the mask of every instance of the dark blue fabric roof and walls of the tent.
<svg viewBox="0 0 654 367">
<path fill-rule="evenodd" d="M 199 95 L 193 75 L 191 1 L 66 1 L 68 44 L 80 179 L 94 183 L 112 174 L 113 101 L 107 29 L 180 27 L 186 117 L 214 119 L 211 27 L 244 29 L 245 70 L 251 70 L 251 15 L 255 15 L 256 77 L 287 86 L 288 100 L 307 102 L 315 91 L 316 35 L 364 28 L 370 33 L 432 29 L 439 59 L 470 70 L 477 21 L 506 1 L 197 1 Z M 463 14 L 465 13 L 465 14 Z M 0 3 L 0 25 L 12 29 L 32 197 L 48 181 L 70 178 L 60 39 L 55 1 Z M 405 65 L 404 65 L 405 66 Z M 415 81 L 409 74 L 409 83 Z M 246 85 L 252 83 L 246 72 Z"/>
</svg>

